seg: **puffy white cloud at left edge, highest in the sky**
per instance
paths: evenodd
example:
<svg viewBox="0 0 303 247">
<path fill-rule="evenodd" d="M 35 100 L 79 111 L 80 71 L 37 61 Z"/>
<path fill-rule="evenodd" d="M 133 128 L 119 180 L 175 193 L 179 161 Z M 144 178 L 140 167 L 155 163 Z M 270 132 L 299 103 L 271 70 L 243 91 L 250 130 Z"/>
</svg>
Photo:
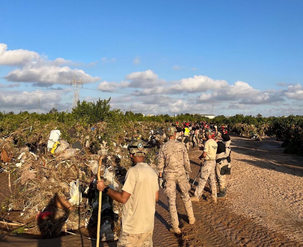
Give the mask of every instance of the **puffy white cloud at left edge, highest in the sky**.
<svg viewBox="0 0 303 247">
<path fill-rule="evenodd" d="M 35 51 L 7 50 L 7 45 L 0 43 L 0 65 L 22 66 L 39 58 L 40 55 Z"/>
</svg>

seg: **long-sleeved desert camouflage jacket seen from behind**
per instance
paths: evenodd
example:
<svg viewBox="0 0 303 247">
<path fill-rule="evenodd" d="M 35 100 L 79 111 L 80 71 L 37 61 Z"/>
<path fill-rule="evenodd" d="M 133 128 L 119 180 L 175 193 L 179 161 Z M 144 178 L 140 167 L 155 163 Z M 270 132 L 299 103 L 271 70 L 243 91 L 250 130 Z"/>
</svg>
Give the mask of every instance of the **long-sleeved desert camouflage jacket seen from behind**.
<svg viewBox="0 0 303 247">
<path fill-rule="evenodd" d="M 157 171 L 164 179 L 176 179 L 191 173 L 187 150 L 183 143 L 168 140 L 159 151 Z"/>
</svg>

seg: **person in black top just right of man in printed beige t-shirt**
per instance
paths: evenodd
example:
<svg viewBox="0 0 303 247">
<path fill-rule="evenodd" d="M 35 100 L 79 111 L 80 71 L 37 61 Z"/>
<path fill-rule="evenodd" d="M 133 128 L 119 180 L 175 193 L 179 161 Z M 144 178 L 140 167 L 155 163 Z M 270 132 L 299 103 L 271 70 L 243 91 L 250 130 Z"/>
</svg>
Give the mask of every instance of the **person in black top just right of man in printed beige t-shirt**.
<svg viewBox="0 0 303 247">
<path fill-rule="evenodd" d="M 220 132 L 219 132 L 220 133 Z M 219 134 L 220 136 L 220 134 Z M 228 169 L 227 155 L 226 155 L 226 147 L 223 142 L 218 141 L 218 148 L 216 154 L 216 178 L 219 184 L 219 194 L 217 197 L 225 197 L 226 196 L 226 170 Z"/>
</svg>

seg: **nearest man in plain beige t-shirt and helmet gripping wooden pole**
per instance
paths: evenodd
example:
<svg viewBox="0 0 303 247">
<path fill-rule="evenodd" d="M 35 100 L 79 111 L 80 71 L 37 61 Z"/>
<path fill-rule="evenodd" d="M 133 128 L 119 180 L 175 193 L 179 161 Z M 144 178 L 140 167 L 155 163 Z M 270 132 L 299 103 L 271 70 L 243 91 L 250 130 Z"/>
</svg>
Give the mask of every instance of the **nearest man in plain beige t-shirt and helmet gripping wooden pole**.
<svg viewBox="0 0 303 247">
<path fill-rule="evenodd" d="M 155 203 L 159 199 L 157 174 L 144 162 L 146 143 L 136 139 L 128 146 L 133 167 L 126 173 L 122 192 L 109 188 L 103 180 L 97 189 L 112 199 L 123 203 L 122 229 L 118 246 L 152 247 Z"/>
</svg>

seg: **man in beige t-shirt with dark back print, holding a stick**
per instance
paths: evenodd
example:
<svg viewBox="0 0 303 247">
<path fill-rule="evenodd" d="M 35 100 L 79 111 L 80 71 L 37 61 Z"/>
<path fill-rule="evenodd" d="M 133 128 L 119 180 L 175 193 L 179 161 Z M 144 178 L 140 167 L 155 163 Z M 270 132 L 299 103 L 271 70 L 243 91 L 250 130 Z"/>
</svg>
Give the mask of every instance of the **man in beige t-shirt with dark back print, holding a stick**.
<svg viewBox="0 0 303 247">
<path fill-rule="evenodd" d="M 204 186 L 208 180 L 209 187 L 211 189 L 211 201 L 217 203 L 217 188 L 215 180 L 215 166 L 216 166 L 216 152 L 217 143 L 212 139 L 213 132 L 211 129 L 205 130 L 205 136 L 207 141 L 205 142 L 203 153 L 199 157 L 200 160 L 204 159 L 202 169 L 199 178 L 199 184 L 196 188 L 195 195 L 191 198 L 192 201 L 198 202 L 200 196 L 203 193 Z"/>
</svg>

